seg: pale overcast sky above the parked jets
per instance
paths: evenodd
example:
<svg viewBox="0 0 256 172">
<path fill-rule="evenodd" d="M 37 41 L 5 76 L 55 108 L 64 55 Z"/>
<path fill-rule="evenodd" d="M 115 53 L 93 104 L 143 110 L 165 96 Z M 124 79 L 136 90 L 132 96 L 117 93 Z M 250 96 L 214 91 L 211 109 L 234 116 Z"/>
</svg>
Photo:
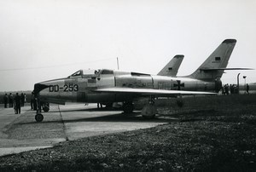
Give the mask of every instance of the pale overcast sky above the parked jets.
<svg viewBox="0 0 256 172">
<path fill-rule="evenodd" d="M 256 69 L 255 9 L 255 0 L 0 0 L 0 91 L 117 69 L 117 57 L 120 70 L 157 74 L 184 54 L 177 74 L 189 75 L 226 38 L 237 40 L 228 67 Z M 240 72 L 256 83 L 255 71 Z"/>
</svg>

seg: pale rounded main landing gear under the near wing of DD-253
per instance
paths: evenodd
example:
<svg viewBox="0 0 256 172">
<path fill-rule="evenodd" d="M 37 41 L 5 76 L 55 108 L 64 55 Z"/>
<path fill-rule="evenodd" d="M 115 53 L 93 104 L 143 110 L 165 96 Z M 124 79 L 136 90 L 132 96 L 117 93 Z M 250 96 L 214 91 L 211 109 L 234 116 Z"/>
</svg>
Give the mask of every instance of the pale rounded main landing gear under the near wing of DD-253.
<svg viewBox="0 0 256 172">
<path fill-rule="evenodd" d="M 148 105 L 143 107 L 142 115 L 143 118 L 154 118 L 157 114 L 156 106 L 154 106 L 154 96 L 150 95 Z"/>
</svg>

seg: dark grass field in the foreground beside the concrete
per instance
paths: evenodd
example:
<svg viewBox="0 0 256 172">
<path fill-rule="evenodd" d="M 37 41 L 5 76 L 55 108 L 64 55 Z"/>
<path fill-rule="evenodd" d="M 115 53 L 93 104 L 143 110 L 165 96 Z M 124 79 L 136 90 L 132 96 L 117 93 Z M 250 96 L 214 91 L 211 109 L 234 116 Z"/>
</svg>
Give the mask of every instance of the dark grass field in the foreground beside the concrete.
<svg viewBox="0 0 256 172">
<path fill-rule="evenodd" d="M 256 171 L 256 96 L 157 100 L 178 122 L 0 158 L 1 171 Z M 172 105 L 172 106 L 171 106 Z"/>
</svg>

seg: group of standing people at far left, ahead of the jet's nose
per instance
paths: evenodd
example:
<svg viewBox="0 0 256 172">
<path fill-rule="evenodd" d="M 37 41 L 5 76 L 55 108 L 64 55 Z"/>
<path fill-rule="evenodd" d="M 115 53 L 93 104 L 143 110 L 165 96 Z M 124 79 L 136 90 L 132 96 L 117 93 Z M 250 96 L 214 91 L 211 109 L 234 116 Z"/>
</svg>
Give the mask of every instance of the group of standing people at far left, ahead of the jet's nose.
<svg viewBox="0 0 256 172">
<path fill-rule="evenodd" d="M 26 94 L 21 93 L 16 93 L 16 95 L 12 95 L 10 93 L 9 95 L 5 94 L 3 96 L 3 103 L 4 103 L 4 108 L 7 108 L 7 104 L 9 103 L 9 107 L 12 108 L 14 107 L 15 109 L 15 114 L 20 114 L 20 108 L 21 106 L 24 106 L 24 103 L 26 102 Z"/>
</svg>

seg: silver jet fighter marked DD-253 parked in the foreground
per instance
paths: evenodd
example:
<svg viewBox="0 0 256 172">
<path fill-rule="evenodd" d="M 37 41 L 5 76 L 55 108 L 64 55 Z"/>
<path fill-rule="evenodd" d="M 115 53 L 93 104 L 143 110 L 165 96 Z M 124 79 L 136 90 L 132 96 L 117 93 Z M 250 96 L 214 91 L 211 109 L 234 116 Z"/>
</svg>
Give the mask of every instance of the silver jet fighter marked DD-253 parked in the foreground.
<svg viewBox="0 0 256 172">
<path fill-rule="evenodd" d="M 69 77 L 36 83 L 34 92 L 38 104 L 49 102 L 64 105 L 66 101 L 84 103 L 123 102 L 124 112 L 133 111 L 132 101 L 138 97 L 148 97 L 148 105 L 143 108 L 143 117 L 153 118 L 157 113 L 155 97 L 173 95 L 215 95 L 222 87 L 220 77 L 226 68 L 236 39 L 226 39 L 191 75 L 170 77 L 166 69 L 154 76 L 139 72 L 120 72 L 109 69 L 79 70 Z M 168 70 L 167 70 L 168 71 Z M 213 93 L 214 92 L 214 93 Z M 37 112 L 37 122 L 44 116 Z"/>
</svg>

